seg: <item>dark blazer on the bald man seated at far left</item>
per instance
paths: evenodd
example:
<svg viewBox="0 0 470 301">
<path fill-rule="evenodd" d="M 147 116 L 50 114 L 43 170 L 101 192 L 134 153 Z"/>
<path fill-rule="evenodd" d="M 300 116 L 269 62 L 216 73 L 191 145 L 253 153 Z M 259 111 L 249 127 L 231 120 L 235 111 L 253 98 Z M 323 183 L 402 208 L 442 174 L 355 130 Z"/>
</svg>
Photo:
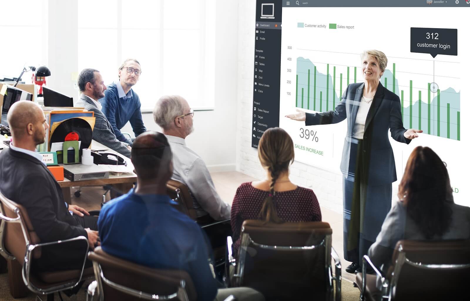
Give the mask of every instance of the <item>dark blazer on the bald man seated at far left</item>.
<svg viewBox="0 0 470 301">
<path fill-rule="evenodd" d="M 88 237 L 69 213 L 54 176 L 37 158 L 10 148 L 2 150 L 0 191 L 25 207 L 41 243 Z"/>
</svg>

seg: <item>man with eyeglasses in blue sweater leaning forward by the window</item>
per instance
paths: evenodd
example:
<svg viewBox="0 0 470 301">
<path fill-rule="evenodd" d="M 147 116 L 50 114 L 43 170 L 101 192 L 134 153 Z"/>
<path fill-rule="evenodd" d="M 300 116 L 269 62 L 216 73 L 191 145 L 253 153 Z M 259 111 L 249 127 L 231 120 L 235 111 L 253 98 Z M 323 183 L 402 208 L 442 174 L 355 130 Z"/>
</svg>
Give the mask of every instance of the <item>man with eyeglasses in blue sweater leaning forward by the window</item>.
<svg viewBox="0 0 470 301">
<path fill-rule="evenodd" d="M 132 87 L 142 74 L 141 64 L 136 59 L 126 59 L 119 67 L 119 81 L 110 84 L 99 100 L 101 111 L 106 115 L 119 141 L 132 145 L 132 140 L 121 133 L 129 121 L 137 137 L 147 131 L 142 120 L 141 101 Z"/>
</svg>

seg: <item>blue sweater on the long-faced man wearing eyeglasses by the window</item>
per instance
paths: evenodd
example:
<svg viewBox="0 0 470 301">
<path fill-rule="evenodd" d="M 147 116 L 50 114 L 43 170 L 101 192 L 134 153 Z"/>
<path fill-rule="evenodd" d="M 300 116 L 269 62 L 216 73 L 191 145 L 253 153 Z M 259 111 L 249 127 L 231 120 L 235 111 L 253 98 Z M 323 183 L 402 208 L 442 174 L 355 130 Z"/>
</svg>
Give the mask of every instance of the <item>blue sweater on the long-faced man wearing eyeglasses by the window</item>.
<svg viewBox="0 0 470 301">
<path fill-rule="evenodd" d="M 99 100 L 102 105 L 101 111 L 110 122 L 116 138 L 132 145 L 132 141 L 128 140 L 120 129 L 129 121 L 136 137 L 147 131 L 142 120 L 141 101 L 133 89 L 130 89 L 124 97 L 119 98 L 116 84 L 120 85 L 119 82 L 112 83 L 104 91 L 104 97 Z"/>
</svg>

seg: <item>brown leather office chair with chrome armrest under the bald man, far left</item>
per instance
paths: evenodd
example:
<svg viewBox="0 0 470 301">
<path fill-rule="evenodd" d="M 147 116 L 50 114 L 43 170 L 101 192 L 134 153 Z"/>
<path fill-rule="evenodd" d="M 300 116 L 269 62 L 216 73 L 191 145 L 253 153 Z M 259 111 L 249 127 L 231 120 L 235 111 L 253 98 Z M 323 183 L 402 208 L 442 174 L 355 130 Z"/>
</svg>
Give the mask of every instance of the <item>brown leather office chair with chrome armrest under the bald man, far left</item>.
<svg viewBox="0 0 470 301">
<path fill-rule="evenodd" d="M 0 192 L 0 253 L 9 261 L 8 280 L 10 293 L 14 298 L 24 297 L 22 283 L 33 293 L 47 295 L 48 301 L 54 300 L 54 293 L 71 290 L 82 279 L 93 277 L 93 269 L 85 269 L 88 239 L 84 236 L 41 243 L 34 231 L 25 208 L 6 198 Z M 83 248 L 84 258 L 81 269 L 53 272 L 34 272 L 32 262 L 41 257 L 43 248 L 54 245 L 73 244 Z M 40 297 L 38 297 L 40 299 Z M 41 300 L 41 299 L 40 299 Z"/>
</svg>

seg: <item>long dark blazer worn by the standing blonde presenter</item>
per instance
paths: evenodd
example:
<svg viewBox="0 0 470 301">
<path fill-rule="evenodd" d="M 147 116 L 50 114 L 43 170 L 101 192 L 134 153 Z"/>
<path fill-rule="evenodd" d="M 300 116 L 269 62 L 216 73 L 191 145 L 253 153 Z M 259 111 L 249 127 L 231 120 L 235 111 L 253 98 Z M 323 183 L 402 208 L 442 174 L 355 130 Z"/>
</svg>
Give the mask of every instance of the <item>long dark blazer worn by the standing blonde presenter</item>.
<svg viewBox="0 0 470 301">
<path fill-rule="evenodd" d="M 338 123 L 347 119 L 348 130 L 343 147 L 341 158 L 341 172 L 345 177 L 351 179 L 354 171 L 349 170 L 351 159 L 351 142 L 357 140 L 352 138 L 352 131 L 356 123 L 357 111 L 362 97 L 364 83 L 350 84 L 338 103 L 335 111 L 323 113 L 306 113 L 305 125 L 324 125 Z M 405 138 L 401 119 L 401 107 L 398 95 L 387 90 L 379 83 L 370 106 L 363 138 L 363 167 L 368 173 L 366 183 L 369 185 L 384 185 L 397 181 L 395 169 L 395 158 L 393 157 L 392 145 L 388 137 L 388 130 L 392 138 L 398 142 L 410 143 L 410 139 Z M 369 168 L 370 167 L 370 168 Z"/>
</svg>

